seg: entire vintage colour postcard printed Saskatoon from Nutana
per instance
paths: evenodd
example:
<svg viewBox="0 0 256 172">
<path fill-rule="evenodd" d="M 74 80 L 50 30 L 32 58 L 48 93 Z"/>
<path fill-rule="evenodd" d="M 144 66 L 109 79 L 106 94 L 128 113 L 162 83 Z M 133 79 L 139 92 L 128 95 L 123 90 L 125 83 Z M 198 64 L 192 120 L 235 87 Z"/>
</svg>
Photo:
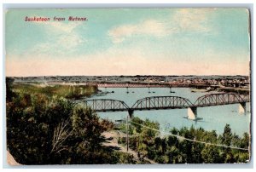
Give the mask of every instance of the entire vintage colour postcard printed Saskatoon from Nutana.
<svg viewBox="0 0 256 172">
<path fill-rule="evenodd" d="M 248 163 L 246 8 L 9 9 L 10 165 Z"/>
</svg>

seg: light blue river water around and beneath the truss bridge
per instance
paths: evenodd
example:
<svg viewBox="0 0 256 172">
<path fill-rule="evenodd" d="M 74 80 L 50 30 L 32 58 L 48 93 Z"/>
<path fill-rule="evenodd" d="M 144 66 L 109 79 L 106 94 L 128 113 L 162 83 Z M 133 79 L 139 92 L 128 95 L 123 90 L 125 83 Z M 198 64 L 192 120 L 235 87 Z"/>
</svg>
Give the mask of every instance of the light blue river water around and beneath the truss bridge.
<svg viewBox="0 0 256 172">
<path fill-rule="evenodd" d="M 209 93 L 195 92 L 192 93 L 189 88 L 172 88 L 175 93 L 170 93 L 169 88 L 129 88 L 129 94 L 126 93 L 126 88 L 108 88 L 101 89 L 102 92 L 114 91 L 102 96 L 93 96 L 90 99 L 114 99 L 124 100 L 128 106 L 132 106 L 137 100 L 148 96 L 180 96 L 189 99 L 192 103 L 195 100 Z M 148 93 L 150 91 L 150 93 Z M 154 92 L 154 93 L 153 93 Z M 211 92 L 214 93 L 214 92 Z M 198 129 L 216 130 L 218 135 L 224 132 L 226 123 L 230 124 L 231 131 L 236 135 L 249 133 L 250 129 L 250 104 L 247 103 L 247 113 L 240 114 L 238 112 L 238 104 L 225 106 L 208 106 L 199 107 L 197 109 L 197 117 L 202 118 L 200 121 L 187 119 L 187 109 L 172 109 L 172 110 L 151 110 L 151 111 L 135 111 L 134 117 L 146 119 L 160 123 L 160 130 L 164 132 L 170 131 L 173 127 L 180 129 L 182 127 L 190 128 L 192 125 Z M 115 121 L 127 117 L 128 112 L 97 112 L 100 118 L 108 118 Z"/>
</svg>

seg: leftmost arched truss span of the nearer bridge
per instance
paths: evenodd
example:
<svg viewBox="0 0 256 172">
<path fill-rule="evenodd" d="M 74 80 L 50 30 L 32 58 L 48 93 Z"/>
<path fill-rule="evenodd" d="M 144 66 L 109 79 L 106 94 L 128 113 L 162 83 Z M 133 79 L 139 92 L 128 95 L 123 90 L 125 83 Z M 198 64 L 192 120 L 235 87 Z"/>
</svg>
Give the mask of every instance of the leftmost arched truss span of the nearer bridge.
<svg viewBox="0 0 256 172">
<path fill-rule="evenodd" d="M 84 100 L 84 106 L 90 106 L 96 112 L 128 111 L 129 106 L 122 100 L 94 99 Z"/>
</svg>

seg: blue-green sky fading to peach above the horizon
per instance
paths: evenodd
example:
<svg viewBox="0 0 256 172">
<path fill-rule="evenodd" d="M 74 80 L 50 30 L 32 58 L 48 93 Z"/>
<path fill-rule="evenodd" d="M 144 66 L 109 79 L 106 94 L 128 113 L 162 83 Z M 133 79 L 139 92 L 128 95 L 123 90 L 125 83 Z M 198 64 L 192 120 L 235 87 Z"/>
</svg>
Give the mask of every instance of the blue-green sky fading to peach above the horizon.
<svg viewBox="0 0 256 172">
<path fill-rule="evenodd" d="M 27 22 L 26 16 L 50 20 Z M 249 75 L 248 16 L 242 8 L 9 9 L 5 73 Z"/>
</svg>

